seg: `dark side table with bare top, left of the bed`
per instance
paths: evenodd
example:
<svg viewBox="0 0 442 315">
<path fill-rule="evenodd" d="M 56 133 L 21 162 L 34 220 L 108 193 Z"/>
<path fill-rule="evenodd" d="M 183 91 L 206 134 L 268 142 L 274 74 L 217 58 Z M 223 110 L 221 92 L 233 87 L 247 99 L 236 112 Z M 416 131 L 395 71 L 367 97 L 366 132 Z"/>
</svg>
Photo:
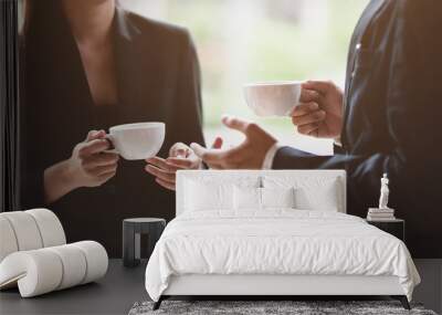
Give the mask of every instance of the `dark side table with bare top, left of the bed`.
<svg viewBox="0 0 442 315">
<path fill-rule="evenodd" d="M 148 258 L 166 228 L 166 220 L 158 218 L 134 218 L 123 221 L 123 264 L 137 266 L 140 262 L 140 235 L 148 235 Z"/>
</svg>

